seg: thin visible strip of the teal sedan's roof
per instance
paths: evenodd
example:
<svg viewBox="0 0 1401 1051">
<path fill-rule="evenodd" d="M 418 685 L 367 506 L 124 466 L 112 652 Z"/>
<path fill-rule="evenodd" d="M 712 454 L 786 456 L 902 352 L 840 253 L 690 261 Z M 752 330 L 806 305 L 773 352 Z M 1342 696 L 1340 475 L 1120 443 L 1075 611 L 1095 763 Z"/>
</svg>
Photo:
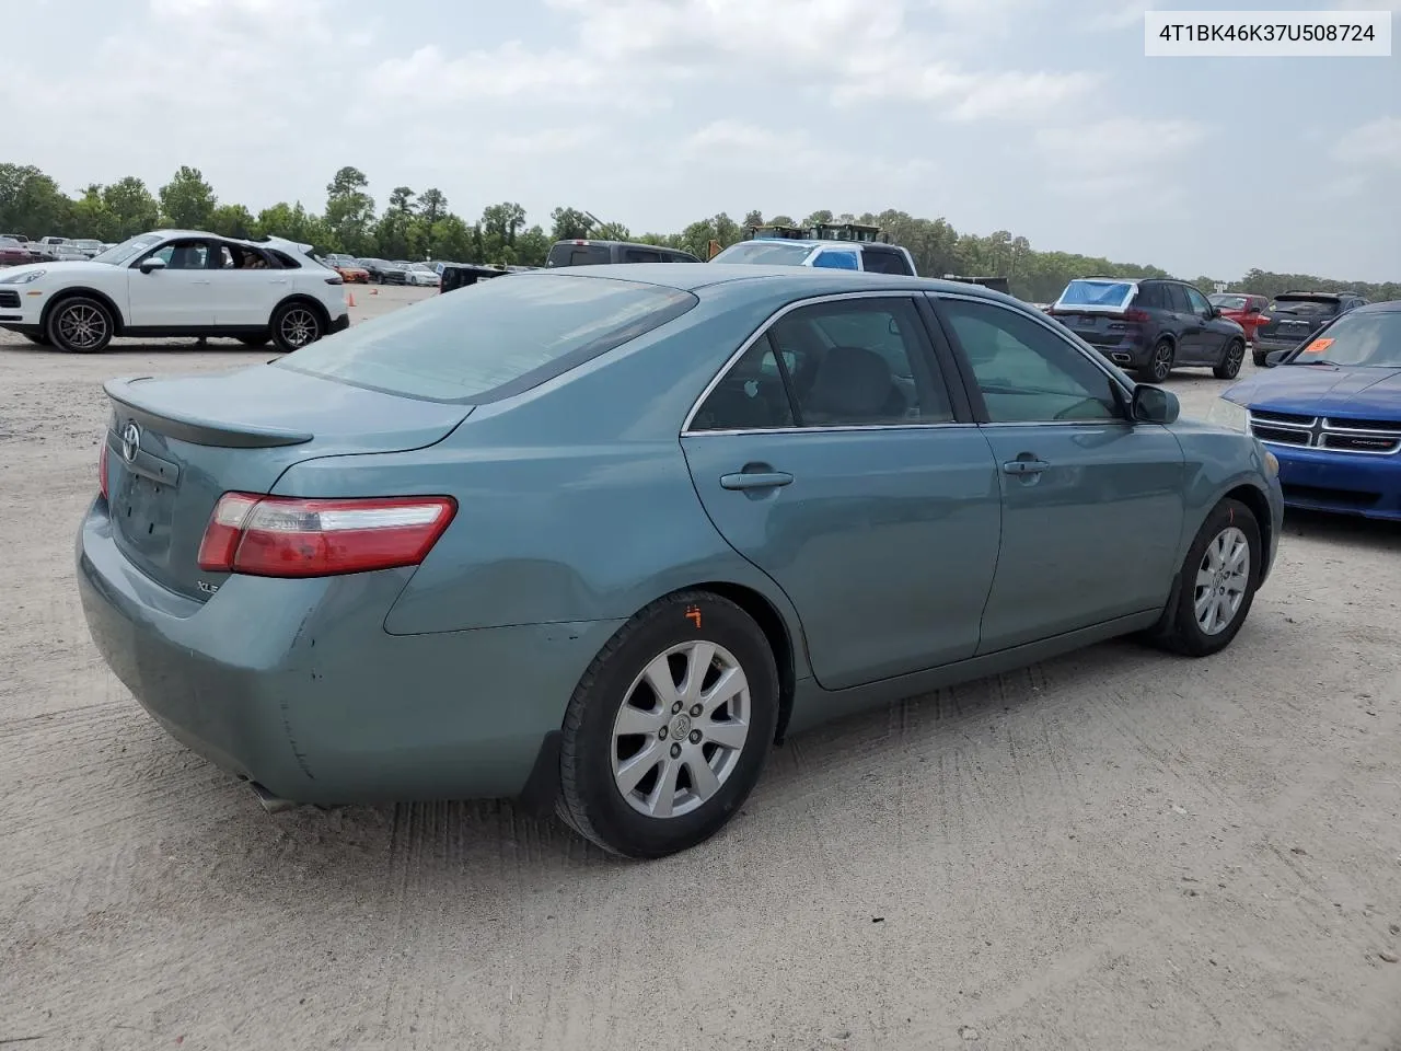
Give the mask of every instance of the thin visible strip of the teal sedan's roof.
<svg viewBox="0 0 1401 1051">
<path fill-rule="evenodd" d="M 623 270 L 623 272 L 619 272 Z M 698 291 L 717 286 L 748 284 L 762 286 L 775 293 L 797 294 L 841 294 L 846 291 L 947 291 L 960 296 L 1016 303 L 1027 305 L 982 284 L 965 284 L 939 277 L 911 277 L 899 273 L 873 273 L 869 270 L 838 270 L 818 266 L 782 266 L 765 263 L 722 263 L 708 262 L 698 266 L 677 266 L 677 263 L 625 263 L 597 266 L 567 266 L 541 270 L 552 277 L 608 277 L 612 280 L 633 280 L 643 284 L 660 284 L 681 291 Z"/>
</svg>

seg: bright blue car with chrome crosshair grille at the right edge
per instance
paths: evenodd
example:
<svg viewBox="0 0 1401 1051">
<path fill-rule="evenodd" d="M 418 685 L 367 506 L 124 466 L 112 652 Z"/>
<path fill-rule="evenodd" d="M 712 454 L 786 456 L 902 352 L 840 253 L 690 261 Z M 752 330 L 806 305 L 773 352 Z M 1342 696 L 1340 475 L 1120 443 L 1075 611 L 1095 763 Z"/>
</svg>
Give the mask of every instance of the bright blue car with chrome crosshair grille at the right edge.
<svg viewBox="0 0 1401 1051">
<path fill-rule="evenodd" d="M 1337 317 L 1229 388 L 1279 458 L 1285 503 L 1401 520 L 1401 301 Z"/>
</svg>

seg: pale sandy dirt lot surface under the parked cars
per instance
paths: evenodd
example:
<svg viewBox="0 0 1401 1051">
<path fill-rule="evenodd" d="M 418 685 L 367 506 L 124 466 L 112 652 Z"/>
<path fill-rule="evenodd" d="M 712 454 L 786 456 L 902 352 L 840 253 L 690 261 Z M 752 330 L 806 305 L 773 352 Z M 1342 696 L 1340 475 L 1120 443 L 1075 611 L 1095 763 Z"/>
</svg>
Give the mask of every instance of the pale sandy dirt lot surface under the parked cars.
<svg viewBox="0 0 1401 1051">
<path fill-rule="evenodd" d="M 266 356 L 0 335 L 0 1044 L 1401 1047 L 1401 531 L 1290 516 L 1224 654 L 801 736 L 665 862 L 504 803 L 269 817 L 108 674 L 71 563 L 99 383 Z"/>
</svg>

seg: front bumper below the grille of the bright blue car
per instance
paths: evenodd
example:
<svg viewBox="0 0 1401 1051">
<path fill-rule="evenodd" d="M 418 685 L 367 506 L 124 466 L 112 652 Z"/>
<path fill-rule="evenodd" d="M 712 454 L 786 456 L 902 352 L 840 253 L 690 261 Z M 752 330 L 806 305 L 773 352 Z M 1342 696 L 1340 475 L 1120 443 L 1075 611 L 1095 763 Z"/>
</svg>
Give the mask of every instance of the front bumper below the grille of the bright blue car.
<svg viewBox="0 0 1401 1051">
<path fill-rule="evenodd" d="M 1401 521 L 1401 455 L 1267 446 L 1279 458 L 1286 506 Z"/>
</svg>

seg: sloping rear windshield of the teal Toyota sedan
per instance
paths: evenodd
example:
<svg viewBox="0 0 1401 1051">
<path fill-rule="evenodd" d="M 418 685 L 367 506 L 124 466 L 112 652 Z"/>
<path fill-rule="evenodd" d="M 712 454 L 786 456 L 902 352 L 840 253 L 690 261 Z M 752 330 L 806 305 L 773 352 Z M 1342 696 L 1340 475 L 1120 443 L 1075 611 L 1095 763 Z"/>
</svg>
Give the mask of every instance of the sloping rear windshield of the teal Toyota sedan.
<svg viewBox="0 0 1401 1051">
<path fill-rule="evenodd" d="M 276 364 L 409 398 L 493 401 L 636 339 L 696 303 L 689 291 L 657 284 L 511 275 L 354 325 Z"/>
</svg>

